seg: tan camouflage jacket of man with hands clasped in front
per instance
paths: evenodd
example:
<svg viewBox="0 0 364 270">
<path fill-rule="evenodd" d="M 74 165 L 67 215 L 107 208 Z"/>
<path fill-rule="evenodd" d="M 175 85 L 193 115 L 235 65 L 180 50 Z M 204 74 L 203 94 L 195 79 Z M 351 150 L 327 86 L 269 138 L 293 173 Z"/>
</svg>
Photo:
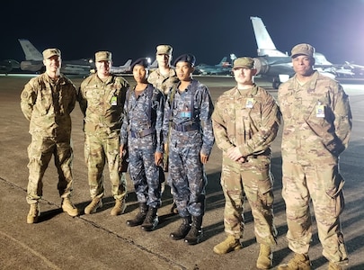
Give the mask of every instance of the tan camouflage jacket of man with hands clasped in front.
<svg viewBox="0 0 364 270">
<path fill-rule="evenodd" d="M 273 96 L 262 87 L 236 87 L 218 97 L 212 114 L 218 148 L 238 147 L 243 157 L 271 154 L 271 142 L 280 126 L 280 110 Z"/>
</svg>

